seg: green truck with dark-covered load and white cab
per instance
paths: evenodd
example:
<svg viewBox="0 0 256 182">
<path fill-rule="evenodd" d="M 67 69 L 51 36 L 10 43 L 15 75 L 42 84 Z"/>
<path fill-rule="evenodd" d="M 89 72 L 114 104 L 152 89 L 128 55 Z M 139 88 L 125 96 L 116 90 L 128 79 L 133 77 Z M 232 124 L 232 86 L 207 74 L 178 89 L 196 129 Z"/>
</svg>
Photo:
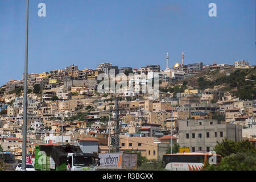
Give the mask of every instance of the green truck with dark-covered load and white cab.
<svg viewBox="0 0 256 182">
<path fill-rule="evenodd" d="M 82 153 L 79 146 L 35 146 L 37 171 L 96 171 L 98 158 Z"/>
</svg>

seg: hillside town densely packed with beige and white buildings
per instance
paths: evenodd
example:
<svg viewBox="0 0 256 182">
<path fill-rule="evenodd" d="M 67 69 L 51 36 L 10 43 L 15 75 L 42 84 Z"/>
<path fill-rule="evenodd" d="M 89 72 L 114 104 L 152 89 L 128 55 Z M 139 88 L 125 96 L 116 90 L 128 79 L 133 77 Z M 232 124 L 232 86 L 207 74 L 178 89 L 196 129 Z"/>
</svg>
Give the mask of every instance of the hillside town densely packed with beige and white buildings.
<svg viewBox="0 0 256 182">
<path fill-rule="evenodd" d="M 119 151 L 137 150 L 148 160 L 162 160 L 171 140 L 189 152 L 210 152 L 224 138 L 249 139 L 255 146 L 255 67 L 245 60 L 234 65 L 185 64 L 184 52 L 180 63 L 169 59 L 167 53 L 163 69 L 160 65 L 119 68 L 101 63 L 94 69 L 70 65 L 28 74 L 27 155 L 34 157 L 36 145 L 72 144 L 84 153 L 97 154 L 114 150 L 115 101 Z M 100 92 L 98 77 L 102 73 L 111 77 L 111 72 L 115 77 L 134 74 L 143 78 L 129 90 L 121 86 L 112 93 L 110 86 L 104 88 L 109 92 Z M 151 79 L 150 72 L 159 76 L 154 95 L 142 89 Z M 229 81 L 233 78 L 238 79 L 237 85 Z M 1 152 L 20 160 L 24 79 L 23 75 L 0 88 Z M 134 80 L 125 80 L 130 81 Z"/>
</svg>

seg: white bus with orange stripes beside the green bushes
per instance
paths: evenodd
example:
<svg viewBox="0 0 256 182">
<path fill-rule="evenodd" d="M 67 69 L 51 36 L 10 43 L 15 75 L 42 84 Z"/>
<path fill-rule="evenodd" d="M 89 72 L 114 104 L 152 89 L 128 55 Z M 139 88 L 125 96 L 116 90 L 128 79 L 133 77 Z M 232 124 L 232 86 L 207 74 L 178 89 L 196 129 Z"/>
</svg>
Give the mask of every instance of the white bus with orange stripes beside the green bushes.
<svg viewBox="0 0 256 182">
<path fill-rule="evenodd" d="M 216 156 L 216 164 L 221 163 L 221 155 L 188 152 L 163 155 L 162 164 L 170 171 L 201 171 L 213 155 Z"/>
</svg>

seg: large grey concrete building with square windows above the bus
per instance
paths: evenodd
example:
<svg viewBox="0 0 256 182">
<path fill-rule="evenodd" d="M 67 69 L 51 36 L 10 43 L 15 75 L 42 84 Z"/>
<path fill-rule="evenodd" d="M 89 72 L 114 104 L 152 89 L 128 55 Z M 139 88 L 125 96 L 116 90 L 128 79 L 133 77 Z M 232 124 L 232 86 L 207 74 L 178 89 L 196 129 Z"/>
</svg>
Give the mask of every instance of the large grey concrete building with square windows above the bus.
<svg viewBox="0 0 256 182">
<path fill-rule="evenodd" d="M 179 145 L 189 147 L 191 152 L 212 151 L 224 138 L 238 142 L 242 139 L 242 126 L 218 123 L 213 119 L 180 120 Z"/>
</svg>

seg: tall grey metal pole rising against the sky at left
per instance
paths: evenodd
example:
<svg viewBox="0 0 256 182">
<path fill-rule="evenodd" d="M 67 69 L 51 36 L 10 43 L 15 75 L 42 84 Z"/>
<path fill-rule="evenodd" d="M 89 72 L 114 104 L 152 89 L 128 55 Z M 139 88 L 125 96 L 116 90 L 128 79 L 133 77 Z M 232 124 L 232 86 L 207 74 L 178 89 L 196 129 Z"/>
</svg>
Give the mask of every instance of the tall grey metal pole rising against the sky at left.
<svg viewBox="0 0 256 182">
<path fill-rule="evenodd" d="M 28 3 L 27 0 L 27 24 L 25 46 L 25 72 L 24 72 L 24 100 L 23 100 L 23 130 L 22 130 L 22 170 L 26 171 L 27 154 L 27 57 L 28 57 Z"/>
</svg>

